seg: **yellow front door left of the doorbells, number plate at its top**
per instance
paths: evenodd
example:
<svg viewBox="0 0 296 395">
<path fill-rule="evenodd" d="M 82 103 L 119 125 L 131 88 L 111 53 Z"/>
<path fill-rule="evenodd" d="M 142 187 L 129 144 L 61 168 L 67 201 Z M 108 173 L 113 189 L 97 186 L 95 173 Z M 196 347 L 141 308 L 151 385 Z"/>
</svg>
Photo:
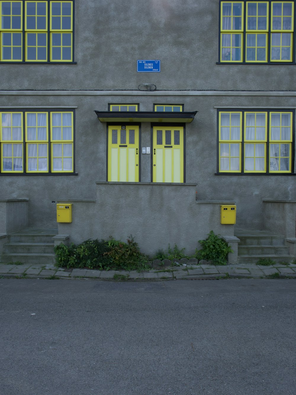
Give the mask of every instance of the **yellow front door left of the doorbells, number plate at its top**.
<svg viewBox="0 0 296 395">
<path fill-rule="evenodd" d="M 108 181 L 139 181 L 139 126 L 108 126 Z"/>
</svg>

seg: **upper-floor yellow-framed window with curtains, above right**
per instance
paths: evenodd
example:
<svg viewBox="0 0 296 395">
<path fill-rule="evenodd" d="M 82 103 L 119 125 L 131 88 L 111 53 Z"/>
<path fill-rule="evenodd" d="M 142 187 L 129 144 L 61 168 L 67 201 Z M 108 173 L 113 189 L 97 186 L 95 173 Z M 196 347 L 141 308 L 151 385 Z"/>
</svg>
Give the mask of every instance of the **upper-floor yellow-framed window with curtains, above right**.
<svg viewBox="0 0 296 395">
<path fill-rule="evenodd" d="M 220 5 L 220 62 L 295 64 L 294 1 Z"/>
</svg>

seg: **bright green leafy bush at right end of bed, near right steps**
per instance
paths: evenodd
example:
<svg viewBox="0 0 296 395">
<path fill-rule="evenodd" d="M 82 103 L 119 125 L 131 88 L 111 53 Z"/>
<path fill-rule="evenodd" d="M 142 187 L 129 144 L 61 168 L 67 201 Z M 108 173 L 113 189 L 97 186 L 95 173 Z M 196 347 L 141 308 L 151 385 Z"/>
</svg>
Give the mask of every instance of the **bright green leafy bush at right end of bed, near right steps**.
<svg viewBox="0 0 296 395">
<path fill-rule="evenodd" d="M 200 250 L 195 250 L 195 257 L 199 260 L 213 261 L 214 265 L 227 265 L 227 254 L 233 252 L 231 247 L 221 239 L 220 235 L 215 235 L 214 231 L 208 233 L 205 240 L 199 240 L 202 245 Z"/>
</svg>

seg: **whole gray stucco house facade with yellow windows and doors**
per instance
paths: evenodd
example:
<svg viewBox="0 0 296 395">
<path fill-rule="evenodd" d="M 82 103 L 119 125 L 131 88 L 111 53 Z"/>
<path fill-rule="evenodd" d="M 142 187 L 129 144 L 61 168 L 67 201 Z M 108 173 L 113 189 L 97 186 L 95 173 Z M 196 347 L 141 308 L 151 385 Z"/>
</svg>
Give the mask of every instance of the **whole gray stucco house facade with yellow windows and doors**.
<svg viewBox="0 0 296 395">
<path fill-rule="evenodd" d="M 294 1 L 3 0 L 0 12 L 0 199 L 27 199 L 2 235 L 132 234 L 148 254 L 192 253 L 212 229 L 295 237 Z M 71 223 L 56 203 L 72 203 Z"/>
</svg>

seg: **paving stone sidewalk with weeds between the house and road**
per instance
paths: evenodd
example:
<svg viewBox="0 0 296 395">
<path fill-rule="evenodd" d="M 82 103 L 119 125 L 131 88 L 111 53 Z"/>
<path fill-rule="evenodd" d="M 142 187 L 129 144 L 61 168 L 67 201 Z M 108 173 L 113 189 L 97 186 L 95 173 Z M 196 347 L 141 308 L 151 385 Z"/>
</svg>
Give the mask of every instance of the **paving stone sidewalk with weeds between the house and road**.
<svg viewBox="0 0 296 395">
<path fill-rule="evenodd" d="M 64 269 L 54 265 L 0 263 L 0 278 L 85 278 L 96 280 L 195 280 L 220 278 L 296 278 L 296 265 L 187 265 L 152 268 L 150 271 L 100 271 Z"/>
</svg>

